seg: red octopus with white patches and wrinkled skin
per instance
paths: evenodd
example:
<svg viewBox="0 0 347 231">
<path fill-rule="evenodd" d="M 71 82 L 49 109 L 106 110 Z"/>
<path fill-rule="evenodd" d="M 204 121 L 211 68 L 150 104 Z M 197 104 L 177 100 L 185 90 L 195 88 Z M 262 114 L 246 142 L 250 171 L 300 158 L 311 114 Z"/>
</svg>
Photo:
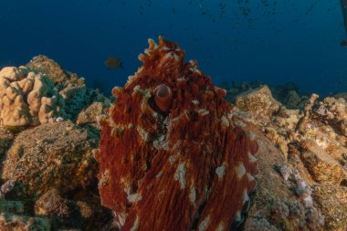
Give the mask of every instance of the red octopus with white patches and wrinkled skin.
<svg viewBox="0 0 347 231">
<path fill-rule="evenodd" d="M 99 190 L 121 230 L 229 230 L 255 189 L 258 144 L 214 86 L 159 37 L 100 119 Z"/>
</svg>

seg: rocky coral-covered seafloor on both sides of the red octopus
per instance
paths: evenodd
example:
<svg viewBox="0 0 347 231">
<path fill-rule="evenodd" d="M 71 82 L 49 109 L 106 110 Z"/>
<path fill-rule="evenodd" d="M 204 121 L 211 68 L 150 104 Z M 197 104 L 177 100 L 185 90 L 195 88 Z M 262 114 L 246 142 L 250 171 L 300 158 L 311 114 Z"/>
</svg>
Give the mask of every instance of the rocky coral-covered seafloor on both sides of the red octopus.
<svg viewBox="0 0 347 231">
<path fill-rule="evenodd" d="M 238 230 L 347 229 L 347 93 L 223 86 L 258 142 L 258 183 Z M 0 230 L 117 230 L 100 204 L 98 118 L 112 99 L 54 60 L 0 70 Z"/>
</svg>

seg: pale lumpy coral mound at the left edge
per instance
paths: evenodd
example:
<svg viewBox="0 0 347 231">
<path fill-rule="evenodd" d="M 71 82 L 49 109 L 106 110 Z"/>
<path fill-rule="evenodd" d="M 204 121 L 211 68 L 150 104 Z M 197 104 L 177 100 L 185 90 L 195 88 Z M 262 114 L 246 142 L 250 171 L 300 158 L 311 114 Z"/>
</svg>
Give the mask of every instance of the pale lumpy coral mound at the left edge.
<svg viewBox="0 0 347 231">
<path fill-rule="evenodd" d="M 47 76 L 26 67 L 0 71 L 1 125 L 37 125 L 65 115 L 64 100 Z"/>
</svg>

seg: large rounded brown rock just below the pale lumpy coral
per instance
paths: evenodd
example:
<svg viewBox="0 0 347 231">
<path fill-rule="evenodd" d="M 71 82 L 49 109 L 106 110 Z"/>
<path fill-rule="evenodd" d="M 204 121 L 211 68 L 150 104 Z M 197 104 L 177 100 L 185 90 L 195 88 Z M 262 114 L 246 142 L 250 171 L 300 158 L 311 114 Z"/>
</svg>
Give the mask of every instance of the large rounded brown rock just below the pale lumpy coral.
<svg viewBox="0 0 347 231">
<path fill-rule="evenodd" d="M 71 121 L 22 131 L 6 154 L 2 177 L 20 183 L 27 194 L 86 186 L 96 173 L 92 150 L 97 144 L 98 137 Z"/>
</svg>

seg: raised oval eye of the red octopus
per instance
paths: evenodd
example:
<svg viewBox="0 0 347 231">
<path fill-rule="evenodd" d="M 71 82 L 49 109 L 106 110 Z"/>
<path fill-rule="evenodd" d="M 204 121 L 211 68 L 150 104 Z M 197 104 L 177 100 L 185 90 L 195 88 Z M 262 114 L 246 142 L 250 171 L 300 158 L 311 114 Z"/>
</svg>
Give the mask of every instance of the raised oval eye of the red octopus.
<svg viewBox="0 0 347 231">
<path fill-rule="evenodd" d="M 154 89 L 154 102 L 159 110 L 162 112 L 168 112 L 173 103 L 173 90 L 165 85 L 161 84 Z"/>
</svg>

